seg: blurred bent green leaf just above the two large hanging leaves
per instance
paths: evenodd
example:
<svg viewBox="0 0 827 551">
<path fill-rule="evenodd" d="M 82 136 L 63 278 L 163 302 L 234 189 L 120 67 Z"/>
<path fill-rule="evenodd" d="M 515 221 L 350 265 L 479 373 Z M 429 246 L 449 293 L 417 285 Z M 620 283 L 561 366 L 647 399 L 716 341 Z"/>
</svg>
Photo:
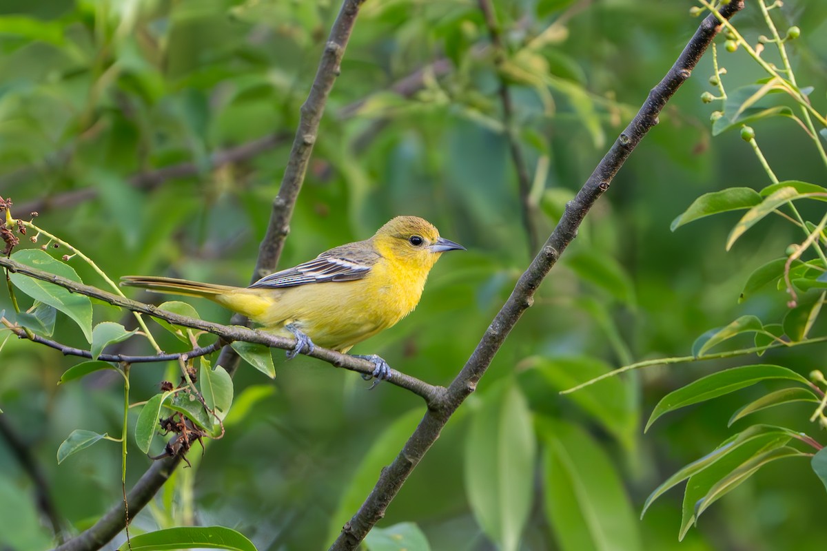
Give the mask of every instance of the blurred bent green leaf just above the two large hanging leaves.
<svg viewBox="0 0 827 551">
<path fill-rule="evenodd" d="M 599 359 L 587 356 L 535 358 L 532 359 L 531 365 L 556 391 L 576 387 L 581 382 L 600 377 L 611 370 Z M 600 422 L 620 444 L 623 444 L 624 449 L 632 450 L 638 435 L 640 416 L 632 384 L 633 382 L 627 379 L 608 378 L 598 385 L 566 394 L 566 399 L 576 403 Z"/>
</svg>

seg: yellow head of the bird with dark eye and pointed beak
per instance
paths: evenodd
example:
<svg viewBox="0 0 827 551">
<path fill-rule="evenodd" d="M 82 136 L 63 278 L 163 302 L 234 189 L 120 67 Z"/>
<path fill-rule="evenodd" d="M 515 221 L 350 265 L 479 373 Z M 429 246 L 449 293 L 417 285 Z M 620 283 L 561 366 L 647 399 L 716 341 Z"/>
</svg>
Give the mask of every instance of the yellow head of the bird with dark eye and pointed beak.
<svg viewBox="0 0 827 551">
<path fill-rule="evenodd" d="M 465 247 L 439 236 L 439 230 L 418 216 L 396 216 L 373 236 L 380 253 L 412 267 L 430 270 L 442 253 Z"/>
</svg>

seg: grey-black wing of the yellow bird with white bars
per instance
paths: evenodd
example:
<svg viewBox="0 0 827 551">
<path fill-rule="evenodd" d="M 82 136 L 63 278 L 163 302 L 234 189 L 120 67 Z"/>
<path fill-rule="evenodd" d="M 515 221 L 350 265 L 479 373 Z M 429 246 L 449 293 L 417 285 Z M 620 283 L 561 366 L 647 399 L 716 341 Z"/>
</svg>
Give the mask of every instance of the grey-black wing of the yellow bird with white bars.
<svg viewBox="0 0 827 551">
<path fill-rule="evenodd" d="M 315 259 L 294 268 L 270 273 L 253 283 L 250 288 L 295 287 L 306 283 L 353 281 L 364 278 L 380 258 L 380 254 L 372 245 L 364 241 L 349 243 L 327 250 Z"/>
</svg>

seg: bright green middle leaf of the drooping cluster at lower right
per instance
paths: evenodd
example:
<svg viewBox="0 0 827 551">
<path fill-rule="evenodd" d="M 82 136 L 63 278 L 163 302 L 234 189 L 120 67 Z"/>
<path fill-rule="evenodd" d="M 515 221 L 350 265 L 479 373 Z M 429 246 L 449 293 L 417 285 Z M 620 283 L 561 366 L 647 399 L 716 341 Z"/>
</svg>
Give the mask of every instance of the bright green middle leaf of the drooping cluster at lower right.
<svg viewBox="0 0 827 551">
<path fill-rule="evenodd" d="M 733 447 L 718 458 L 715 463 L 703 469 L 700 473 L 693 474 L 686 482 L 686 490 L 683 494 L 681 530 L 678 532 L 678 539 L 682 540 L 695 522 L 698 501 L 703 499 L 719 480 L 728 476 L 734 469 L 739 468 L 749 458 L 753 458 L 756 454 L 761 454 L 764 451 L 782 448 L 792 438 L 788 431 L 780 427 L 760 426 L 760 430 L 767 431 L 765 434 L 747 439 L 742 445 Z"/>
</svg>

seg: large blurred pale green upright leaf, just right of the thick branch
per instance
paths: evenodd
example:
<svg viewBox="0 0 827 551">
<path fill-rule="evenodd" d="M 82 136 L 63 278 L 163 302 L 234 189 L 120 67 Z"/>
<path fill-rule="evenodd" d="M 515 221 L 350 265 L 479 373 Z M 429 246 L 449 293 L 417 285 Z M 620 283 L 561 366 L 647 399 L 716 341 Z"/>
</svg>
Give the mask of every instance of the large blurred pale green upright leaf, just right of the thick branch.
<svg viewBox="0 0 827 551">
<path fill-rule="evenodd" d="M 483 397 L 466 439 L 466 494 L 483 532 L 504 551 L 519 547 L 531 511 L 536 442 L 531 411 L 509 381 Z"/>
</svg>

